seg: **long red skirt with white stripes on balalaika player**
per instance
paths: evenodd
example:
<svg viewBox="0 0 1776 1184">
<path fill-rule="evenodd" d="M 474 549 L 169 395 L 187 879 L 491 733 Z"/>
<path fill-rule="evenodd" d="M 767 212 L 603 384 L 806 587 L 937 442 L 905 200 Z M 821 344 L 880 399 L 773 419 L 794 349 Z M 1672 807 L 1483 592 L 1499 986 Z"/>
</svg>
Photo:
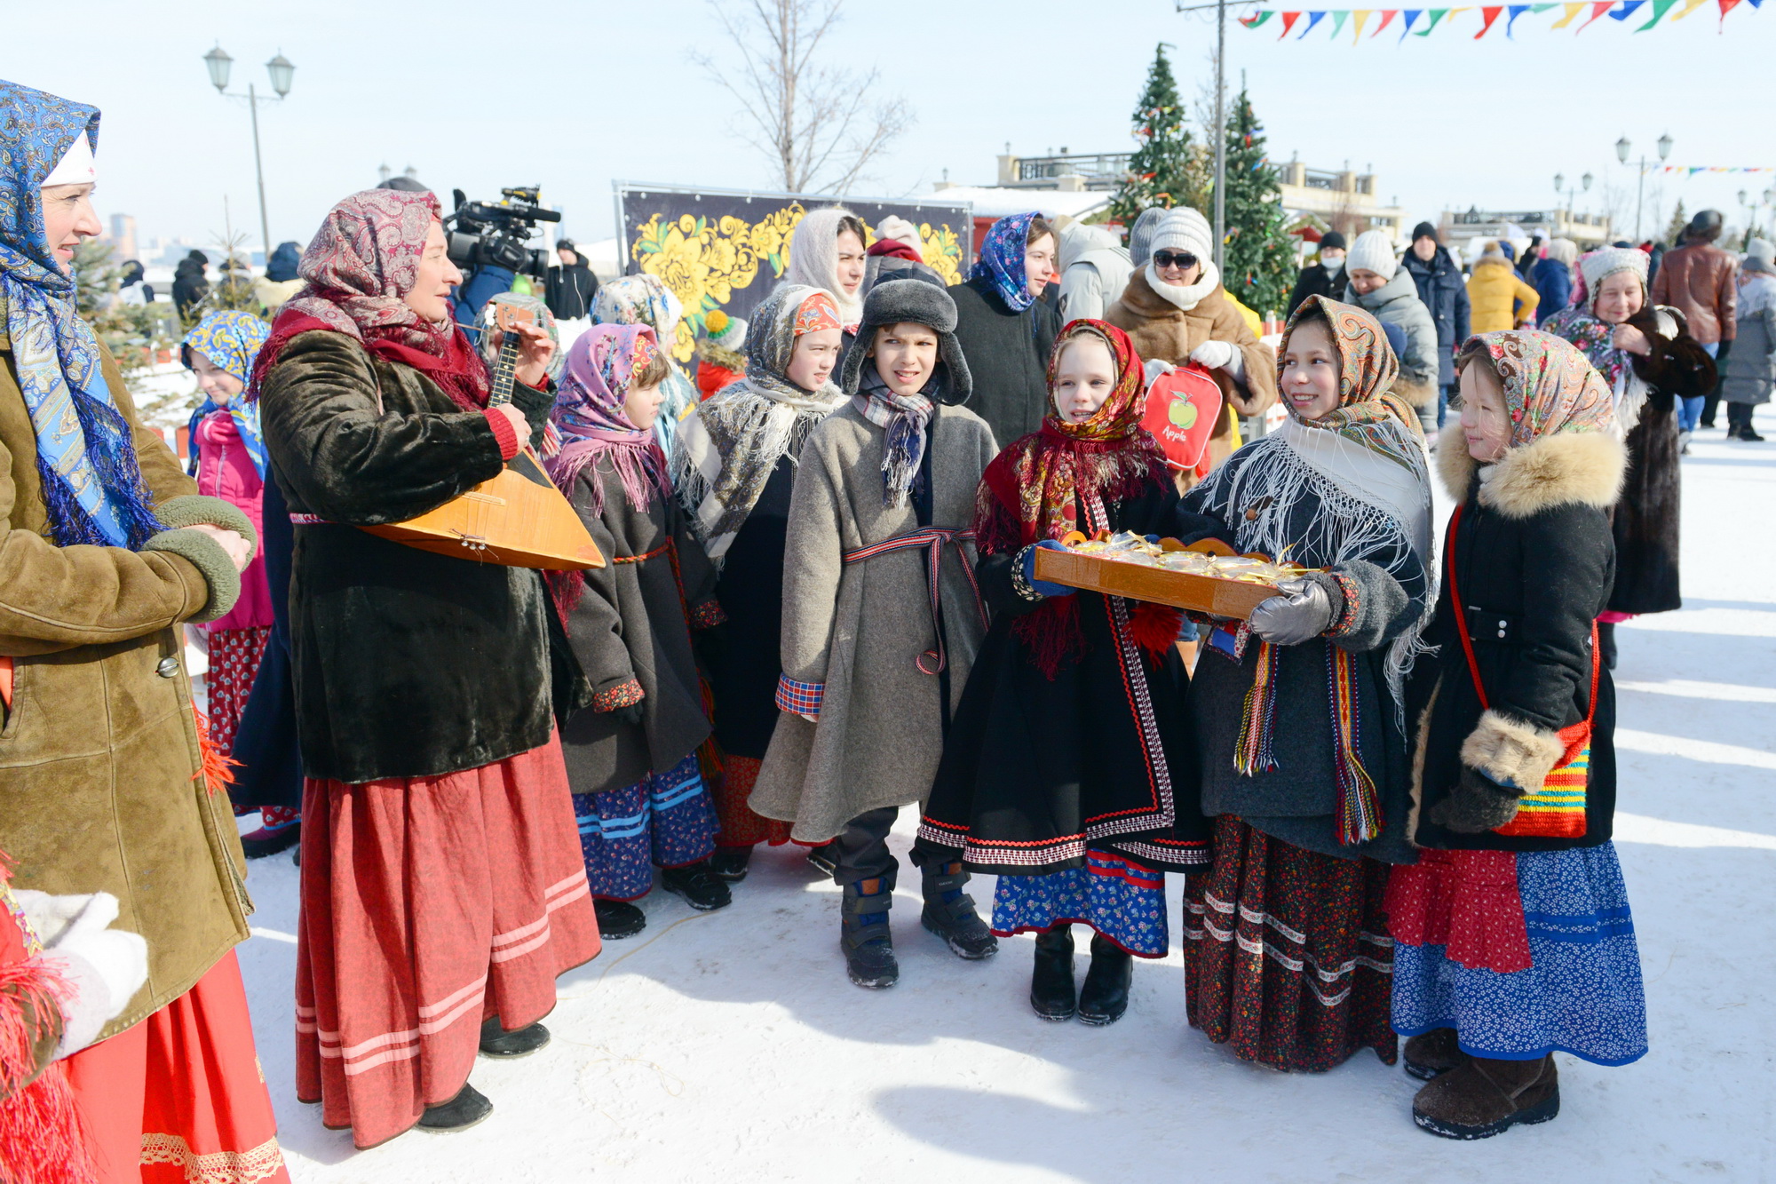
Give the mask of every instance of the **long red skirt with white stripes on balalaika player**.
<svg viewBox="0 0 1776 1184">
<path fill-rule="evenodd" d="M 481 1020 L 554 1008 L 599 953 L 561 741 L 302 798 L 297 1097 L 359 1147 L 456 1097 Z"/>
</svg>

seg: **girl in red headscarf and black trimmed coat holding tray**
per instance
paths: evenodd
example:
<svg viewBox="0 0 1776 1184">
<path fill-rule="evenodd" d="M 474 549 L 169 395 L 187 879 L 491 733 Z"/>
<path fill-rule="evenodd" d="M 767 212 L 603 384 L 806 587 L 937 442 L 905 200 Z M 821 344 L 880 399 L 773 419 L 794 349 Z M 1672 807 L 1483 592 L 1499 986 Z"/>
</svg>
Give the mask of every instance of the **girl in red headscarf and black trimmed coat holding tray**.
<svg viewBox="0 0 1776 1184">
<path fill-rule="evenodd" d="M 1179 533 L 1177 491 L 1146 411 L 1142 363 L 1101 320 L 1062 329 L 1043 427 L 987 466 L 975 537 L 993 608 L 950 727 L 918 848 L 996 873 L 993 932 L 1035 932 L 1030 1004 L 1110 1024 L 1133 956 L 1163 958 L 1165 869 L 1208 862 L 1185 693 L 1163 604 L 1035 580 L 1071 530 Z M 1201 519 L 1202 533 L 1217 523 Z M 1083 990 L 1073 923 L 1094 932 Z"/>
</svg>

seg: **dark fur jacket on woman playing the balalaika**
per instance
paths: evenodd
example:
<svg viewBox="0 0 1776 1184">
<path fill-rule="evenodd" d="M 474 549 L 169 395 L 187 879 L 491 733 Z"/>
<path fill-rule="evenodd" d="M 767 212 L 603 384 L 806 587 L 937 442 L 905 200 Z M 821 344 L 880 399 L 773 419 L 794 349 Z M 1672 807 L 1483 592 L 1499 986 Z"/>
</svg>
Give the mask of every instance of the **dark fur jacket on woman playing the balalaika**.
<svg viewBox="0 0 1776 1184">
<path fill-rule="evenodd" d="M 552 402 L 513 388 L 531 423 Z M 542 576 L 357 530 L 497 476 L 487 416 L 327 331 L 291 338 L 259 405 L 289 512 L 323 519 L 297 528 L 289 578 L 304 772 L 352 784 L 435 777 L 549 743 L 565 638 Z"/>
</svg>

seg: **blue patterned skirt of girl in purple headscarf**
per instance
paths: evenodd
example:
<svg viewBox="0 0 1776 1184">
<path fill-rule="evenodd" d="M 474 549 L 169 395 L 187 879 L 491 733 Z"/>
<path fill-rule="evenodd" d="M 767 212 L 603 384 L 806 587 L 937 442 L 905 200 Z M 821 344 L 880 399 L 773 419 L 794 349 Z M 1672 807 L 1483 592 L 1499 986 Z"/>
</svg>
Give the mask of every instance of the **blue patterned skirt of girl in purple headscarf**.
<svg viewBox="0 0 1776 1184">
<path fill-rule="evenodd" d="M 716 850 L 716 805 L 693 752 L 666 773 L 607 793 L 575 793 L 579 850 L 591 894 L 638 900 L 654 868 L 684 868 Z"/>
</svg>

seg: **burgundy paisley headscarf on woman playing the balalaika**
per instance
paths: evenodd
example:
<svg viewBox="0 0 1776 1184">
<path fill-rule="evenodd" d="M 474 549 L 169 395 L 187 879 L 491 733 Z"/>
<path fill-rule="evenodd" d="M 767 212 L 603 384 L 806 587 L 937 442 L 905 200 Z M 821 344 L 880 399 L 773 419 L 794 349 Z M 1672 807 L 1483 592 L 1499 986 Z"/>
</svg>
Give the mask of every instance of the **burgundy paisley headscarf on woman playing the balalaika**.
<svg viewBox="0 0 1776 1184">
<path fill-rule="evenodd" d="M 432 194 L 392 188 L 368 188 L 329 210 L 297 267 L 307 286 L 277 313 L 259 350 L 256 386 L 293 336 L 332 329 L 423 372 L 464 411 L 487 407 L 487 364 L 456 322 L 421 320 L 401 299 L 414 288 L 439 213 Z"/>
</svg>

